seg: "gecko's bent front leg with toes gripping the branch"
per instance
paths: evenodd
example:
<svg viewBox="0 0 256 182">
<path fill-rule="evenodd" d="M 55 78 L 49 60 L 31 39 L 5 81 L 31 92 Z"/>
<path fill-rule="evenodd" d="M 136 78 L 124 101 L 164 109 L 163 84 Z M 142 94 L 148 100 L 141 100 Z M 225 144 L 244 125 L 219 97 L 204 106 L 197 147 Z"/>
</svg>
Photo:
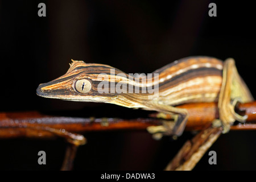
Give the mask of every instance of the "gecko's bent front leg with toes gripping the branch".
<svg viewBox="0 0 256 182">
<path fill-rule="evenodd" d="M 149 126 L 147 127 L 147 131 L 153 134 L 155 139 L 162 138 L 163 135 L 172 135 L 179 137 L 184 129 L 188 120 L 188 112 L 185 109 L 180 109 L 177 107 L 172 107 L 168 105 L 162 105 L 156 102 L 151 102 L 148 110 L 155 110 L 163 113 L 162 118 L 164 118 L 164 114 L 173 115 L 174 122 L 172 121 L 163 121 L 162 126 Z"/>
</svg>

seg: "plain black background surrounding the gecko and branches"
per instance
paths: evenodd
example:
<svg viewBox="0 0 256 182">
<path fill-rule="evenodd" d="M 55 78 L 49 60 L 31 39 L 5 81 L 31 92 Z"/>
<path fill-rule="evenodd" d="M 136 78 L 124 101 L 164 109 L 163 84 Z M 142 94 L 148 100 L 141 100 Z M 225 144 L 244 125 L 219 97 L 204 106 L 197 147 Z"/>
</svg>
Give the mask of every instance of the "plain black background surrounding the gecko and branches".
<svg viewBox="0 0 256 182">
<path fill-rule="evenodd" d="M 38 16 L 46 3 L 47 16 Z M 208 5 L 217 5 L 209 17 Z M 36 96 L 40 83 L 69 68 L 71 59 L 112 65 L 126 73 L 151 73 L 186 56 L 233 57 L 255 95 L 255 7 L 234 1 L 0 1 L 0 111 L 39 110 L 79 117 L 134 117 L 147 111 L 110 104 L 68 102 Z M 185 140 L 155 141 L 146 131 L 84 134 L 74 169 L 162 170 Z M 255 131 L 230 131 L 210 148 L 195 170 L 255 170 Z M 63 139 L 1 139 L 0 169 L 61 166 Z M 38 151 L 47 154 L 39 166 Z"/>
</svg>

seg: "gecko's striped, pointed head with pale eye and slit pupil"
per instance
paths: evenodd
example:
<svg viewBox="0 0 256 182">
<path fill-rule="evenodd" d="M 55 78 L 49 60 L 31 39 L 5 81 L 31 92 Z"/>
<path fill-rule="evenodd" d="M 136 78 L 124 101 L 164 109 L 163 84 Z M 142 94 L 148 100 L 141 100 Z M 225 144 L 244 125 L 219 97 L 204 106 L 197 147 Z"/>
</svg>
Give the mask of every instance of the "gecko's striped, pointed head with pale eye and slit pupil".
<svg viewBox="0 0 256 182">
<path fill-rule="evenodd" d="M 115 75 L 123 72 L 109 65 L 72 61 L 65 75 L 40 84 L 36 94 L 41 97 L 82 102 L 110 102 L 118 95 L 116 92 L 110 92 L 109 82 L 113 81 Z"/>
</svg>

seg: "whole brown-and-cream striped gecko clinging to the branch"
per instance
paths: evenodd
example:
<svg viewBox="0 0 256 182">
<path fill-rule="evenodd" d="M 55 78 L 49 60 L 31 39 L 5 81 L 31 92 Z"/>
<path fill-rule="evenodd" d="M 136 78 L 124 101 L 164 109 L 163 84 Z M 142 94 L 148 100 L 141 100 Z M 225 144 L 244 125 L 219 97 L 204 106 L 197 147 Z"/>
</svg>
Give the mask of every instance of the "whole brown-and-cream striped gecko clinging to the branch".
<svg viewBox="0 0 256 182">
<path fill-rule="evenodd" d="M 153 72 L 154 77 L 151 82 L 147 80 L 147 76 L 142 76 L 141 79 L 129 77 L 125 72 L 109 65 L 72 61 L 65 75 L 38 86 L 36 90 L 38 96 L 69 101 L 105 102 L 175 115 L 175 122 L 148 127 L 150 133 L 161 136 L 180 136 L 183 133 L 189 115 L 187 110 L 177 108 L 176 105 L 218 102 L 219 119 L 226 133 L 235 120 L 241 122 L 246 120 L 246 115 L 235 113 L 236 103 L 254 100 L 238 75 L 233 59 L 223 62 L 214 57 L 186 57 Z M 99 92 L 102 83 L 105 92 Z M 113 90 L 111 86 L 105 88 L 105 84 L 114 85 L 114 88 L 119 87 Z M 118 92 L 127 91 L 126 84 L 132 86 L 133 92 Z M 150 93 L 149 88 L 158 88 L 158 93 Z M 136 93 L 135 89 L 140 92 Z M 146 92 L 142 93 L 142 90 Z"/>
</svg>

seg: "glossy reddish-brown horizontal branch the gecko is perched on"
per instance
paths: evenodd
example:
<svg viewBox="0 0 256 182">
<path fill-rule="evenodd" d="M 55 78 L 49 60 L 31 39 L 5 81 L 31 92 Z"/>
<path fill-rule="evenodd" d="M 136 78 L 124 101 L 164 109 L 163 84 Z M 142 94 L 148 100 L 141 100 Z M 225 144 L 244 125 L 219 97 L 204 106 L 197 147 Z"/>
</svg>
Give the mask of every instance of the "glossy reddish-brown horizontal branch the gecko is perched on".
<svg viewBox="0 0 256 182">
<path fill-rule="evenodd" d="M 185 104 L 179 106 L 188 110 L 189 119 L 186 130 L 201 130 L 213 119 L 218 118 L 216 103 Z M 256 102 L 241 104 L 248 119 L 245 124 L 232 126 L 232 130 L 256 129 Z M 153 118 L 120 119 L 120 118 L 75 118 L 44 115 L 38 111 L 0 113 L 0 138 L 12 137 L 53 137 L 47 131 L 35 130 L 35 126 L 49 126 L 69 132 L 84 133 L 88 131 L 106 130 L 144 130 L 148 126 L 162 125 L 156 114 Z"/>
</svg>

